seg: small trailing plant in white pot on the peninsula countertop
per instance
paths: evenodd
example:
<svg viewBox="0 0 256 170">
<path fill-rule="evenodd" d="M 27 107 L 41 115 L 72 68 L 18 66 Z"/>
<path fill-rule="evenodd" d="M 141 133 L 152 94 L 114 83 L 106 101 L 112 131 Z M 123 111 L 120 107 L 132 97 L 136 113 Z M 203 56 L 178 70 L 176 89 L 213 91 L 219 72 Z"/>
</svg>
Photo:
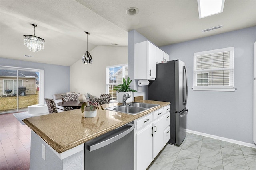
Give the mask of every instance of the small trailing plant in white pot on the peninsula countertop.
<svg viewBox="0 0 256 170">
<path fill-rule="evenodd" d="M 84 113 L 84 117 L 96 117 L 97 116 L 96 109 L 99 109 L 99 106 L 100 105 L 97 102 L 87 101 L 82 104 L 81 111 L 82 113 Z M 100 108 L 104 110 L 102 106 L 100 106 Z"/>
</svg>

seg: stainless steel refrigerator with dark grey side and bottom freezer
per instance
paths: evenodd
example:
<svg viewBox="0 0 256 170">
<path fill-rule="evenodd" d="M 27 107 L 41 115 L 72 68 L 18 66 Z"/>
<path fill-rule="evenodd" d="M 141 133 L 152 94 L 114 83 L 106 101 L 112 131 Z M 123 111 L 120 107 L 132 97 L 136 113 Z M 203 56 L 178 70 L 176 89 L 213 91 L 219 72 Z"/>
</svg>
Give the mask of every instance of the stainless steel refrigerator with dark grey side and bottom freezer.
<svg viewBox="0 0 256 170">
<path fill-rule="evenodd" d="M 148 85 L 148 100 L 170 102 L 170 140 L 180 145 L 186 137 L 188 76 L 181 60 L 156 64 L 156 80 Z"/>
</svg>

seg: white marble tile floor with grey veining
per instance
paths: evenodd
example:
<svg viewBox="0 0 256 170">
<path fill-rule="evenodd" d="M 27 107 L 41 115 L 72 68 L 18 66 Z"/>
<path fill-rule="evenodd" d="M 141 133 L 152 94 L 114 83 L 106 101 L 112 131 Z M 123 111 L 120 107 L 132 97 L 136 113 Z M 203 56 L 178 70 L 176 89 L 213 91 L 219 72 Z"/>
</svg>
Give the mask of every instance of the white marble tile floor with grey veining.
<svg viewBox="0 0 256 170">
<path fill-rule="evenodd" d="M 256 170 L 256 149 L 187 133 L 167 144 L 147 170 Z"/>
</svg>

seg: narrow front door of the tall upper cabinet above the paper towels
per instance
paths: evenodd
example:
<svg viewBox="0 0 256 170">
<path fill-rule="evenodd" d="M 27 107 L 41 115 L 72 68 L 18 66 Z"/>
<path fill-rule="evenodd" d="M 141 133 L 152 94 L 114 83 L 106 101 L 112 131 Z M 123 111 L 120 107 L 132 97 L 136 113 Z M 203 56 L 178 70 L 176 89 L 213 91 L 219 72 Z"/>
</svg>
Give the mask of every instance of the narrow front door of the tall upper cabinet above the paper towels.
<svg viewBox="0 0 256 170">
<path fill-rule="evenodd" d="M 148 79 L 156 78 L 156 46 L 148 42 Z"/>
</svg>

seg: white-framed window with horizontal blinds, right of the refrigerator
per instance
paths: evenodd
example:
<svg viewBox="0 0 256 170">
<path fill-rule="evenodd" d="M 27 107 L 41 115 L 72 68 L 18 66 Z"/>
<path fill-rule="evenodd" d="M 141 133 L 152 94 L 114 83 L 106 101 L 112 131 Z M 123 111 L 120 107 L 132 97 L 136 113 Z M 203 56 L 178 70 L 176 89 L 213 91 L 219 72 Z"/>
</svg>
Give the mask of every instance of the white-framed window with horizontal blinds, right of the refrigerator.
<svg viewBox="0 0 256 170">
<path fill-rule="evenodd" d="M 234 91 L 234 47 L 194 53 L 193 90 Z"/>
</svg>

